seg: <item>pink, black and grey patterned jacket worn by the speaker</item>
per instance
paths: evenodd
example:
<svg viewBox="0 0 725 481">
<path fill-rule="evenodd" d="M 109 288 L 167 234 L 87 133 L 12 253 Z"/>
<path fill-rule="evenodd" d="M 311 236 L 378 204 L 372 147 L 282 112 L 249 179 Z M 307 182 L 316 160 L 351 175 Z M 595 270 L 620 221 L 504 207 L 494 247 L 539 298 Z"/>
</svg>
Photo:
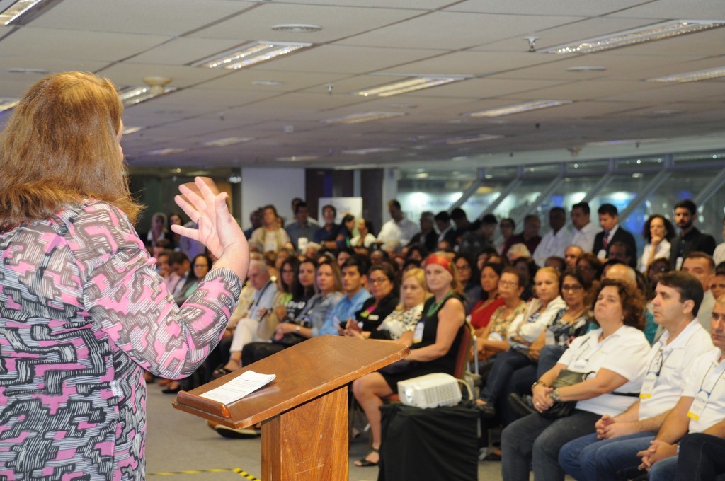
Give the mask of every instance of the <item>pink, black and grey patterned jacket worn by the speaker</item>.
<svg viewBox="0 0 725 481">
<path fill-rule="evenodd" d="M 88 200 L 0 234 L 0 479 L 143 480 L 143 369 L 181 378 L 241 282 L 212 269 L 181 308 L 119 209 Z"/>
</svg>

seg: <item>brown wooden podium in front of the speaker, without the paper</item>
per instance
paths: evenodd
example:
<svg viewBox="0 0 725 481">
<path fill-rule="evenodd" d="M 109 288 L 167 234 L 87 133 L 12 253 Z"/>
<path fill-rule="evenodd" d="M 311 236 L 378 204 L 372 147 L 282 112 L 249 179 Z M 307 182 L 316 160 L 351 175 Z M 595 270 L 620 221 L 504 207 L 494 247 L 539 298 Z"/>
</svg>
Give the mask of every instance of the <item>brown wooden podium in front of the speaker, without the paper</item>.
<svg viewBox="0 0 725 481">
<path fill-rule="evenodd" d="M 347 480 L 347 384 L 408 353 L 401 344 L 322 335 L 181 391 L 173 406 L 228 427 L 262 422 L 262 481 Z M 229 405 L 200 397 L 248 370 L 277 377 Z"/>
</svg>

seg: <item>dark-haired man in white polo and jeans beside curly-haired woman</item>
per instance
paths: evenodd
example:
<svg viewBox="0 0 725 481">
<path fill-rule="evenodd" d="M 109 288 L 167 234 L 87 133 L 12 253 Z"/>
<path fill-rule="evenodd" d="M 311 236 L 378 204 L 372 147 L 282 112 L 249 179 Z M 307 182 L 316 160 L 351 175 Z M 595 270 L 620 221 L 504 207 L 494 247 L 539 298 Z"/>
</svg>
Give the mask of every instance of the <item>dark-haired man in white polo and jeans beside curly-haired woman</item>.
<svg viewBox="0 0 725 481">
<path fill-rule="evenodd" d="M 567 443 L 561 466 L 577 480 L 626 479 L 637 475 L 637 452 L 647 449 L 679 401 L 695 359 L 711 351 L 710 335 L 695 319 L 703 290 L 692 275 L 667 272 L 655 290 L 655 322 L 665 332 L 650 350 L 639 401 L 622 414 L 602 416 L 597 432 Z"/>
</svg>

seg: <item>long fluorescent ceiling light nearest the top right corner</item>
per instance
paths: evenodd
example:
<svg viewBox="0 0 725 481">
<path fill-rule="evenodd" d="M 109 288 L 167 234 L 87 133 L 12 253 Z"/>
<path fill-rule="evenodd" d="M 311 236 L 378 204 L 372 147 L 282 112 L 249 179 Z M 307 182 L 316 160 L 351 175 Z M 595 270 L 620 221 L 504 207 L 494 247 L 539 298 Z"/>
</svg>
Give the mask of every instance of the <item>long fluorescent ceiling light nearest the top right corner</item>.
<svg viewBox="0 0 725 481">
<path fill-rule="evenodd" d="M 545 50 L 547 54 L 591 54 L 592 52 L 618 49 L 637 43 L 663 40 L 687 33 L 699 32 L 710 28 L 725 26 L 725 22 L 712 20 L 671 20 L 669 22 L 655 23 L 647 27 L 633 28 L 622 32 L 587 38 L 573 43 L 565 43 Z"/>
</svg>

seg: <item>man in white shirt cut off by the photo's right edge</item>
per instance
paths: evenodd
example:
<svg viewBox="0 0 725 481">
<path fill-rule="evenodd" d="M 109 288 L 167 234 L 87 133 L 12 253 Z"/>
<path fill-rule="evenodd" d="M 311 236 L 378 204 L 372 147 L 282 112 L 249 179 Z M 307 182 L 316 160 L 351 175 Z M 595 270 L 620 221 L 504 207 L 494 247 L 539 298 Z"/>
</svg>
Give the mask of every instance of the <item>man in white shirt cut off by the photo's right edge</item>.
<svg viewBox="0 0 725 481">
<path fill-rule="evenodd" d="M 638 453 L 640 469 L 650 472 L 650 481 L 672 480 L 675 476 L 677 442 L 687 432 L 715 434 L 725 419 L 725 296 L 713 308 L 711 338 L 715 349 L 698 356 L 685 373 L 684 390 L 676 406 L 662 423 L 649 448 Z"/>
</svg>

